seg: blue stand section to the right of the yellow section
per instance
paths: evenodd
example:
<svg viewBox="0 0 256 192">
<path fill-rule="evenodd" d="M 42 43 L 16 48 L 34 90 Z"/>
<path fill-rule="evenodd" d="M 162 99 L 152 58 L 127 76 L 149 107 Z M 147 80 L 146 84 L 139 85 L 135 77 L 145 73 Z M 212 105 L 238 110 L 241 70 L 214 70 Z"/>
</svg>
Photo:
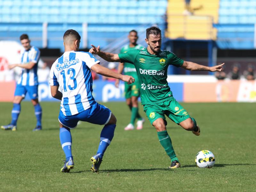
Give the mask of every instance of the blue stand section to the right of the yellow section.
<svg viewBox="0 0 256 192">
<path fill-rule="evenodd" d="M 253 49 L 256 1 L 220 0 L 217 44 L 223 49 Z"/>
</svg>

